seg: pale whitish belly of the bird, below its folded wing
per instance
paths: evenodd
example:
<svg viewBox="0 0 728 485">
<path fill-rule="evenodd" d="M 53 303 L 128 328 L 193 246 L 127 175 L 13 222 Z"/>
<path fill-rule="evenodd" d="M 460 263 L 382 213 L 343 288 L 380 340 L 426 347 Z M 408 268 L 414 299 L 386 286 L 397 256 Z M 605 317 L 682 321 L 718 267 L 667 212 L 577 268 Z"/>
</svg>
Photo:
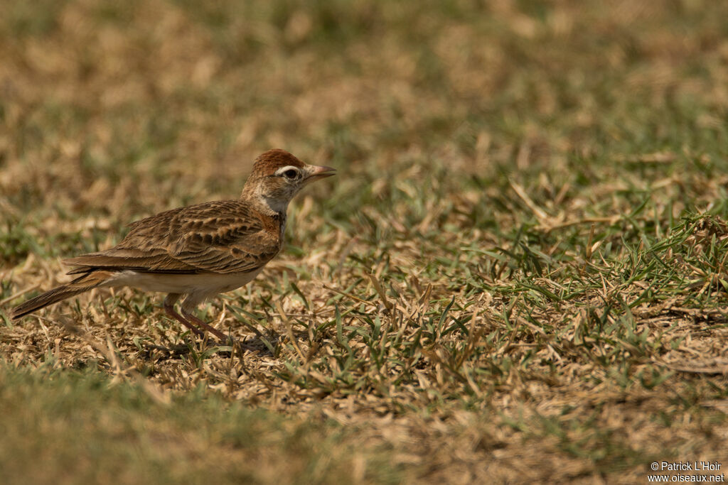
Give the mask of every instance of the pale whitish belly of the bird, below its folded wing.
<svg viewBox="0 0 728 485">
<path fill-rule="evenodd" d="M 262 269 L 234 274 L 141 273 L 124 270 L 109 278 L 103 286 L 132 286 L 146 292 L 189 294 L 185 305 L 188 306 L 197 305 L 216 294 L 245 286 L 253 281 Z"/>
</svg>

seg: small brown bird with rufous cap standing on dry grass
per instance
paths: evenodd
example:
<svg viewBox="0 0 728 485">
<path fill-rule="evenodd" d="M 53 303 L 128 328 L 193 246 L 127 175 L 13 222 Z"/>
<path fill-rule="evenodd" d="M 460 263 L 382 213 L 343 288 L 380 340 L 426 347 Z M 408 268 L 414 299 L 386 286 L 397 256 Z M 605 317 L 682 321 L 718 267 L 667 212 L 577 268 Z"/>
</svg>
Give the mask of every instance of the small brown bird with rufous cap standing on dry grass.
<svg viewBox="0 0 728 485">
<path fill-rule="evenodd" d="M 306 185 L 336 169 L 305 164 L 273 149 L 253 163 L 240 198 L 159 212 L 129 225 L 119 244 L 63 262 L 74 280 L 27 300 L 12 320 L 94 288 L 131 286 L 164 292 L 165 313 L 199 337 L 226 334 L 194 316 L 199 304 L 245 286 L 280 252 L 288 203 Z M 181 313 L 175 304 L 181 302 Z"/>
</svg>

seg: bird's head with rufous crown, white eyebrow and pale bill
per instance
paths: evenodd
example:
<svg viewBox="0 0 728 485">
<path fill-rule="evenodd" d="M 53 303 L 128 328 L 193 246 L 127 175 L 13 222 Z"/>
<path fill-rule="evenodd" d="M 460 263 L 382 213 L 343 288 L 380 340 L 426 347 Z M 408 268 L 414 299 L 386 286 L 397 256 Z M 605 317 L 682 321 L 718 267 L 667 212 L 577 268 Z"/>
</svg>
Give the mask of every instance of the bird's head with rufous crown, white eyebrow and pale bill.
<svg viewBox="0 0 728 485">
<path fill-rule="evenodd" d="M 304 164 L 285 150 L 274 149 L 258 156 L 242 199 L 253 201 L 264 211 L 283 213 L 293 196 L 314 180 L 335 175 L 336 169 Z M 266 211 L 267 212 L 267 211 Z"/>
</svg>

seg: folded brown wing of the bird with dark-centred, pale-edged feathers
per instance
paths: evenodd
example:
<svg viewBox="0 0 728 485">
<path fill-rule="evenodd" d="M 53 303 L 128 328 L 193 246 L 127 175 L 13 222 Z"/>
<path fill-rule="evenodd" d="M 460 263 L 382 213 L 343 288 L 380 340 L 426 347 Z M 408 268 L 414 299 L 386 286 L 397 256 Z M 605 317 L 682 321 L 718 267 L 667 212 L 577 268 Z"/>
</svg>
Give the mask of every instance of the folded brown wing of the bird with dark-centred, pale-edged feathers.
<svg viewBox="0 0 728 485">
<path fill-rule="evenodd" d="M 66 260 L 89 268 L 149 273 L 248 273 L 280 250 L 276 221 L 258 217 L 244 201 L 183 207 L 130 225 L 117 246 Z"/>
</svg>

